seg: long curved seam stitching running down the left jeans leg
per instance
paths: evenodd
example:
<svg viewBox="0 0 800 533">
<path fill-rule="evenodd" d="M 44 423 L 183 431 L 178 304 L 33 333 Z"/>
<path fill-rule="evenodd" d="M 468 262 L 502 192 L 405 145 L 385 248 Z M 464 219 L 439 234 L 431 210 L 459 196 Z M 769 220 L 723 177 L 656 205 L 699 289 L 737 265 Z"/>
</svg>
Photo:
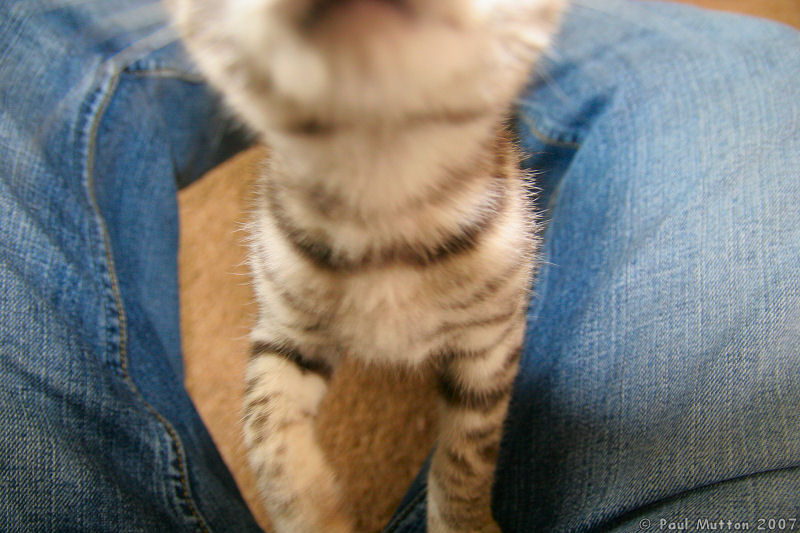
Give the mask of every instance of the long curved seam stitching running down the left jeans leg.
<svg viewBox="0 0 800 533">
<path fill-rule="evenodd" d="M 167 421 L 156 409 L 150 405 L 150 403 L 142 396 L 139 388 L 133 382 L 133 379 L 130 377 L 128 373 L 128 356 L 127 356 L 127 325 L 126 325 L 126 316 L 125 310 L 122 305 L 122 297 L 119 291 L 119 280 L 117 279 L 116 269 L 114 266 L 114 257 L 111 250 L 111 242 L 108 236 L 108 229 L 106 228 L 105 219 L 103 218 L 102 213 L 100 212 L 100 206 L 97 202 L 97 198 L 95 196 L 94 191 L 94 162 L 95 162 L 95 151 L 97 146 L 97 131 L 100 125 L 100 121 L 105 114 L 105 111 L 108 109 L 108 105 L 111 102 L 111 97 L 115 93 L 117 87 L 119 86 L 120 82 L 120 72 L 114 70 L 112 77 L 107 81 L 107 85 L 104 88 L 105 94 L 103 95 L 99 105 L 94 110 L 93 117 L 91 119 L 91 126 L 89 129 L 89 138 L 88 138 L 88 147 L 86 150 L 86 161 L 84 171 L 86 173 L 86 184 L 89 194 L 89 199 L 92 205 L 92 209 L 95 212 L 97 217 L 100 231 L 103 237 L 103 246 L 105 248 L 105 255 L 106 255 L 106 267 L 108 269 L 108 280 L 111 284 L 111 289 L 114 294 L 115 304 L 117 306 L 117 318 L 119 319 L 119 328 L 120 328 L 120 341 L 119 341 L 119 355 L 120 355 L 120 366 L 125 378 L 125 382 L 128 384 L 128 387 L 131 391 L 135 394 L 137 398 L 141 400 L 144 404 L 145 408 L 156 417 L 156 419 L 162 424 L 164 429 L 167 431 L 169 436 L 172 438 L 173 449 L 175 451 L 175 455 L 178 460 L 178 469 L 180 471 L 180 479 L 181 479 L 181 486 L 183 488 L 183 497 L 189 507 L 189 510 L 192 516 L 197 521 L 200 530 L 204 533 L 209 533 L 209 528 L 206 524 L 206 521 L 202 518 L 199 510 L 197 509 L 197 505 L 192 498 L 191 491 L 189 490 L 189 481 L 188 481 L 188 474 L 186 471 L 186 462 L 183 458 L 183 445 L 181 443 L 180 437 L 175 432 L 172 425 Z"/>
</svg>

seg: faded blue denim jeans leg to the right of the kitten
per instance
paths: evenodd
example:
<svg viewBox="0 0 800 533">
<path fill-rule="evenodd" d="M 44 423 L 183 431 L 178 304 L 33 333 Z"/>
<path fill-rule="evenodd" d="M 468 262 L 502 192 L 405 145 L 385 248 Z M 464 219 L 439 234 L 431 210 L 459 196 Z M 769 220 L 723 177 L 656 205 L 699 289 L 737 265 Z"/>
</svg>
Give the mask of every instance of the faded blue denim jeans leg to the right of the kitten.
<svg viewBox="0 0 800 533">
<path fill-rule="evenodd" d="M 539 78 L 517 126 L 548 225 L 496 519 L 800 528 L 800 35 L 581 1 Z M 424 531 L 424 484 L 387 531 Z"/>
</svg>

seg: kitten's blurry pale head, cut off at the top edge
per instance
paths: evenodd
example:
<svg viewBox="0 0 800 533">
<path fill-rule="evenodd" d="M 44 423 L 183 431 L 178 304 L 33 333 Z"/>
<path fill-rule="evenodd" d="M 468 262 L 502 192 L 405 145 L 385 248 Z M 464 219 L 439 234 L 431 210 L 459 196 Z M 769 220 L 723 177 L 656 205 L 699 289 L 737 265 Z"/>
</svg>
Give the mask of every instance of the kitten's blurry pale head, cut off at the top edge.
<svg viewBox="0 0 800 533">
<path fill-rule="evenodd" d="M 563 0 L 168 0 L 256 129 L 500 111 Z"/>
</svg>

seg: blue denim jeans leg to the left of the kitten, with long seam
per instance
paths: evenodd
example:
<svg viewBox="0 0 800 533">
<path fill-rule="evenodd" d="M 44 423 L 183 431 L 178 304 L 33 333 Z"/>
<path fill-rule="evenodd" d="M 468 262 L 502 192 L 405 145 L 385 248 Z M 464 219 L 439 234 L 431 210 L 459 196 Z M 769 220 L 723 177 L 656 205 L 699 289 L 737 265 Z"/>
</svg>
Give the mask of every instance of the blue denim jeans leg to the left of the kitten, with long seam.
<svg viewBox="0 0 800 533">
<path fill-rule="evenodd" d="M 234 138 L 158 4 L 0 12 L 0 530 L 257 531 L 178 321 L 176 179 Z"/>
</svg>

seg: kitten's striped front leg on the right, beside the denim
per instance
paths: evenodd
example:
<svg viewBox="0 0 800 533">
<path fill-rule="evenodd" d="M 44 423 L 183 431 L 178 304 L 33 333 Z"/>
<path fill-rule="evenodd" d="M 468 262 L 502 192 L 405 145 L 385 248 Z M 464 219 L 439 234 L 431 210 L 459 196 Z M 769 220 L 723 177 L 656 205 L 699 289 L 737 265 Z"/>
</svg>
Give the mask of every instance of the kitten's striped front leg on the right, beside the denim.
<svg viewBox="0 0 800 533">
<path fill-rule="evenodd" d="M 453 351 L 441 361 L 428 531 L 500 532 L 492 518 L 492 483 L 524 326 L 524 319 L 515 319 L 491 348 Z"/>
</svg>

